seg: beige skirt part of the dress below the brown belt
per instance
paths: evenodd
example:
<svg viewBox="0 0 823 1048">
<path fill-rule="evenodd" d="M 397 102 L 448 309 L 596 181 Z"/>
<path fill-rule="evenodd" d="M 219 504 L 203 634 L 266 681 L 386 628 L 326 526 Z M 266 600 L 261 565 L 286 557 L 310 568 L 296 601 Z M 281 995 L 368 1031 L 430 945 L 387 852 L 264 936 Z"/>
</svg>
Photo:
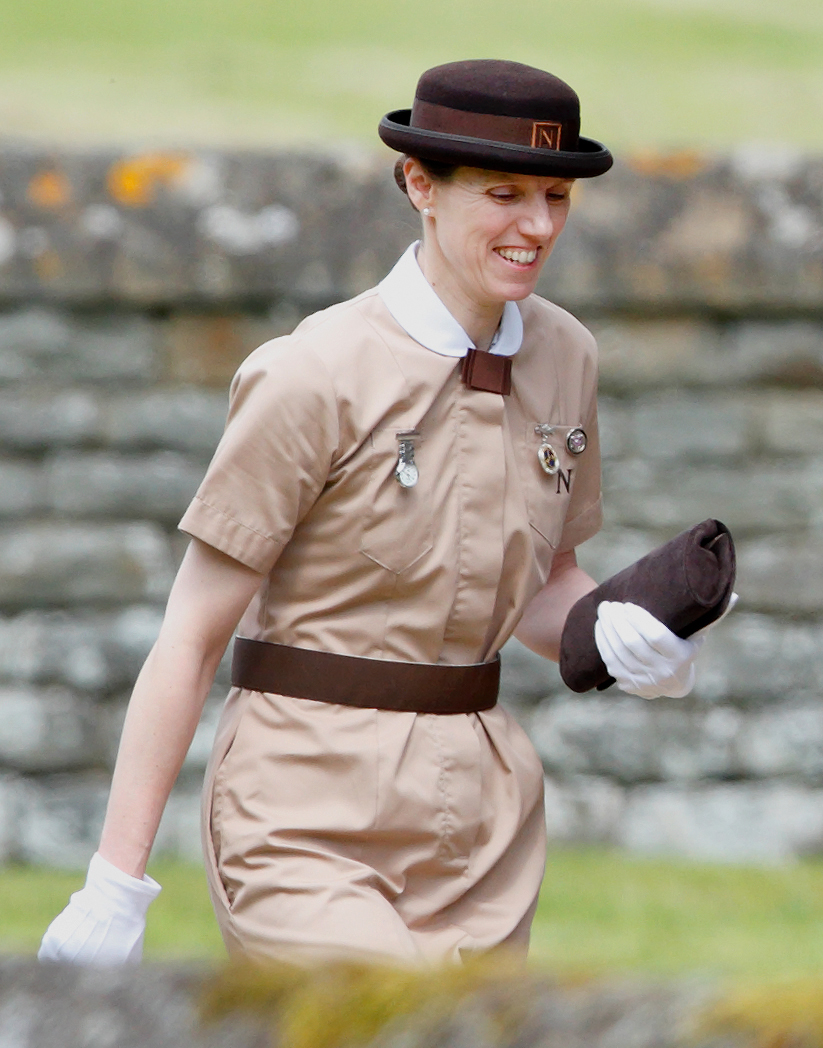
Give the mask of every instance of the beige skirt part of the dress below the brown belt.
<svg viewBox="0 0 823 1048">
<path fill-rule="evenodd" d="M 440 717 L 235 690 L 221 743 L 207 865 L 230 952 L 525 952 L 543 777 L 502 708 Z"/>
</svg>

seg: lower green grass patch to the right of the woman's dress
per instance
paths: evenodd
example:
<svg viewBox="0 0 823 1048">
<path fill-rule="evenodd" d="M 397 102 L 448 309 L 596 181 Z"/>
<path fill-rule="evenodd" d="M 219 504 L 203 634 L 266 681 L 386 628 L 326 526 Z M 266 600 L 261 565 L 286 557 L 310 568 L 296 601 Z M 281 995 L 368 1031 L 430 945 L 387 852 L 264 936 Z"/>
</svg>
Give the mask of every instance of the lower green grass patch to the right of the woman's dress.
<svg viewBox="0 0 823 1048">
<path fill-rule="evenodd" d="M 823 975 L 823 863 L 738 867 L 549 855 L 532 956 L 553 968 Z"/>
</svg>

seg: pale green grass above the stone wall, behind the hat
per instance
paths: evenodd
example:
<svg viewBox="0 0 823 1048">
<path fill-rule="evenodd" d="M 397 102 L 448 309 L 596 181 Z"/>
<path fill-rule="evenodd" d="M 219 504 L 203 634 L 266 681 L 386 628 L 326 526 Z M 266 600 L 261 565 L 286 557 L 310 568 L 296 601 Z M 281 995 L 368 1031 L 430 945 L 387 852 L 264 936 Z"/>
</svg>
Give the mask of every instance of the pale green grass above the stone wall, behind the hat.
<svg viewBox="0 0 823 1048">
<path fill-rule="evenodd" d="M 0 134 L 376 145 L 437 62 L 514 58 L 619 149 L 823 145 L 820 0 L 0 0 Z"/>
</svg>

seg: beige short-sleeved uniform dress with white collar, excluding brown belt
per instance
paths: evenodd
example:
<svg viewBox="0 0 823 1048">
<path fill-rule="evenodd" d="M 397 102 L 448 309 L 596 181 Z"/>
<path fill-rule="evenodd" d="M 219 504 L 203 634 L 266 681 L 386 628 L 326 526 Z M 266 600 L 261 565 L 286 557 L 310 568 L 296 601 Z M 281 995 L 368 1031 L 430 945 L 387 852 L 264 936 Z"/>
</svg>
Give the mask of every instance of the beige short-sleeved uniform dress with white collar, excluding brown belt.
<svg viewBox="0 0 823 1048">
<path fill-rule="evenodd" d="M 536 296 L 468 389 L 472 345 L 415 245 L 386 280 L 257 349 L 180 527 L 263 572 L 240 635 L 372 659 L 492 659 L 557 550 L 598 530 L 595 351 Z M 538 425 L 560 472 L 547 475 Z M 565 446 L 582 427 L 586 450 Z M 416 434 L 419 479 L 395 478 Z M 216 596 L 216 599 L 218 597 Z M 230 952 L 459 958 L 525 949 L 545 860 L 540 761 L 501 707 L 433 715 L 233 689 L 204 791 Z"/>
</svg>

